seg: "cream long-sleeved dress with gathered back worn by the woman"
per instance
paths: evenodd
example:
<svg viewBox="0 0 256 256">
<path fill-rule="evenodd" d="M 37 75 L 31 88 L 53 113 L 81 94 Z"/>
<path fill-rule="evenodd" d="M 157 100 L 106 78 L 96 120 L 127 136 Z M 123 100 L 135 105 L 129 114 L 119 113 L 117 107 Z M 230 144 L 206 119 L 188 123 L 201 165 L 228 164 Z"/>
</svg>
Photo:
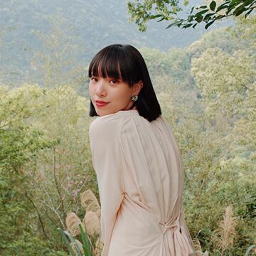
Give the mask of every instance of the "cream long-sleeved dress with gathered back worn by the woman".
<svg viewBox="0 0 256 256">
<path fill-rule="evenodd" d="M 181 155 L 171 127 L 137 110 L 90 124 L 101 203 L 102 256 L 194 255 L 182 208 Z"/>
</svg>

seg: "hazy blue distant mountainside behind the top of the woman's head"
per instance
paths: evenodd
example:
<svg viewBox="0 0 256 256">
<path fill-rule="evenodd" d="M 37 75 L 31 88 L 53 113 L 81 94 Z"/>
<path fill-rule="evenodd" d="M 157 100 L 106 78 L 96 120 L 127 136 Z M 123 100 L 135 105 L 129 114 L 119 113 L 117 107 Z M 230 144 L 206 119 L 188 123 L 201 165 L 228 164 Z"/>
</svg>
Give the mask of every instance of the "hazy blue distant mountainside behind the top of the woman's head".
<svg viewBox="0 0 256 256">
<path fill-rule="evenodd" d="M 151 23 L 143 34 L 127 20 L 126 1 L 2 1 L 0 85 L 69 85 L 87 97 L 86 67 L 107 44 L 168 50 L 187 46 L 204 33 L 176 30 L 166 35 L 158 33 L 161 23 Z"/>
</svg>

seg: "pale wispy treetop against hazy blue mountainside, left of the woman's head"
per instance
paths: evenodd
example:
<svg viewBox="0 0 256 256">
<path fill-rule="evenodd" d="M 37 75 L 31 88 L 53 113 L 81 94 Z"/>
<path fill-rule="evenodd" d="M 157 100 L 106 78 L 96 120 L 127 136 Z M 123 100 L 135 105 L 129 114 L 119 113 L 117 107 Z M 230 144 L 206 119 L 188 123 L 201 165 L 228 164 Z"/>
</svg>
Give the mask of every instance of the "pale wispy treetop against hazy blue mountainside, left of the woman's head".
<svg viewBox="0 0 256 256">
<path fill-rule="evenodd" d="M 55 16 L 46 16 L 46 21 L 50 27 L 48 33 L 31 31 L 41 43 L 40 48 L 33 49 L 31 78 L 36 77 L 35 82 L 44 87 L 68 85 L 80 89 L 85 82 L 85 68 L 78 60 L 81 53 L 80 38 L 73 35 L 73 26 L 60 11 Z"/>
</svg>

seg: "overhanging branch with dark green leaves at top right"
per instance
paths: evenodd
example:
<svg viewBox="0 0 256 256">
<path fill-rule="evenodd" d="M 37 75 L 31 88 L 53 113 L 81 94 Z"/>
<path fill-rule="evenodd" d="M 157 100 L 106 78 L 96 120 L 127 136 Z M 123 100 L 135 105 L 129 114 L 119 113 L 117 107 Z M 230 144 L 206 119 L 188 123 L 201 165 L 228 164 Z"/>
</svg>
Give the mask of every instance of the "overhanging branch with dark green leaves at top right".
<svg viewBox="0 0 256 256">
<path fill-rule="evenodd" d="M 195 28 L 198 23 L 206 23 L 207 29 L 215 21 L 228 16 L 240 16 L 245 18 L 256 8 L 256 0 L 224 0 L 217 4 L 215 0 L 203 6 L 193 6 L 186 18 L 180 18 L 178 13 L 183 11 L 177 0 L 149 0 L 128 1 L 130 20 L 135 21 L 140 31 L 146 31 L 146 22 L 158 18 L 159 21 L 173 21 L 166 28 L 178 26 L 181 28 Z M 188 5 L 188 0 L 184 1 Z"/>
</svg>

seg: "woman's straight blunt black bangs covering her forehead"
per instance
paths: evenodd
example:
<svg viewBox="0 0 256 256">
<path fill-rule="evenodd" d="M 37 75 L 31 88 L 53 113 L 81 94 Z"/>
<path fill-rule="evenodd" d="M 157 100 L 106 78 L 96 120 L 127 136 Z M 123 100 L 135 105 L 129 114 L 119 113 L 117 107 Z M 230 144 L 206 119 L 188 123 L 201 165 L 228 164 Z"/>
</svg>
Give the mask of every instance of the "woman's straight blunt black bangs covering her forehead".
<svg viewBox="0 0 256 256">
<path fill-rule="evenodd" d="M 100 50 L 92 58 L 89 66 L 89 78 L 114 78 L 127 82 L 130 87 L 139 82 L 139 70 L 129 52 L 122 45 L 113 45 Z"/>
</svg>

